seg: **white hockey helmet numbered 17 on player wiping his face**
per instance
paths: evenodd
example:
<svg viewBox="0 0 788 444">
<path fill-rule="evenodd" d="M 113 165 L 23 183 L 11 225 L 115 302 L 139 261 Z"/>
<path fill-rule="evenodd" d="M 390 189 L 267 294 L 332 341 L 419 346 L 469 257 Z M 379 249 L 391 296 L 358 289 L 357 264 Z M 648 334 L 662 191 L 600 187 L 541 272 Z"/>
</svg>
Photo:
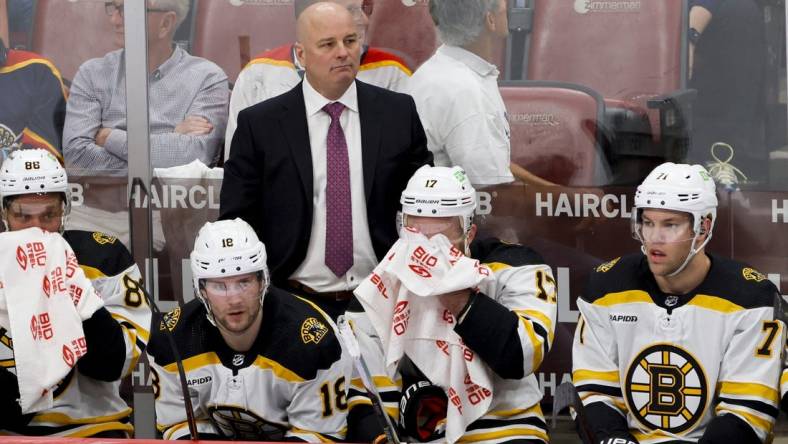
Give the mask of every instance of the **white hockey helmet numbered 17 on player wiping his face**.
<svg viewBox="0 0 788 444">
<path fill-rule="evenodd" d="M 476 210 L 476 190 L 461 167 L 424 165 L 413 173 L 400 203 L 404 217 L 459 216 L 467 233 Z"/>
</svg>

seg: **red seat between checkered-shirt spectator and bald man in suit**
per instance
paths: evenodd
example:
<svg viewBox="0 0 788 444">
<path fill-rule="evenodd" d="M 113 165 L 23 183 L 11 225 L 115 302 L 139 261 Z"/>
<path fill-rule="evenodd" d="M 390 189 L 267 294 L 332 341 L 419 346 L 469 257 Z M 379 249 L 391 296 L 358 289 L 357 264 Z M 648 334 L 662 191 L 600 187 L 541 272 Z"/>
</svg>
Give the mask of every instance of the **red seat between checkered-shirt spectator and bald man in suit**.
<svg viewBox="0 0 788 444">
<path fill-rule="evenodd" d="M 231 82 L 248 60 L 242 57 L 242 37 L 250 53 L 259 54 L 295 40 L 295 10 L 286 0 L 195 0 L 192 54 L 221 66 Z"/>
</svg>

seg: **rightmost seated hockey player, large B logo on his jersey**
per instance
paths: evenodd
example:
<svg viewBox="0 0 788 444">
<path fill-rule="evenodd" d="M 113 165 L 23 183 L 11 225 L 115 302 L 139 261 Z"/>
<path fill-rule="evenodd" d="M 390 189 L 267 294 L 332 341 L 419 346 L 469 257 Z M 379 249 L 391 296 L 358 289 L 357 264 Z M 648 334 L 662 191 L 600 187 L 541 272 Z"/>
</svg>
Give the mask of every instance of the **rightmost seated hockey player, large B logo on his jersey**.
<svg viewBox="0 0 788 444">
<path fill-rule="evenodd" d="M 777 417 L 784 325 L 758 271 L 709 254 L 714 181 L 664 163 L 638 187 L 641 253 L 600 265 L 578 300 L 573 382 L 596 443 L 760 443 Z"/>
</svg>

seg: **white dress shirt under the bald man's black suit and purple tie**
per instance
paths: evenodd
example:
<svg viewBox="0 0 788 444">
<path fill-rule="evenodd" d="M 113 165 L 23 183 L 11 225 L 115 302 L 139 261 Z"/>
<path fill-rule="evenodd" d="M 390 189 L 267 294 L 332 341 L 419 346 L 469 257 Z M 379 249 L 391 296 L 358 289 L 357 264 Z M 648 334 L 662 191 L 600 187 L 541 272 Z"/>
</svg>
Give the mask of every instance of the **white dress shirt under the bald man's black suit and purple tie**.
<svg viewBox="0 0 788 444">
<path fill-rule="evenodd" d="M 304 262 L 290 276 L 291 279 L 318 292 L 352 290 L 369 276 L 377 264 L 367 223 L 367 202 L 364 196 L 364 173 L 361 159 L 361 122 L 358 114 L 356 83 L 336 100 L 345 105 L 339 118 L 348 149 L 350 166 L 350 201 L 353 206 L 353 266 L 337 277 L 325 264 L 326 253 L 326 136 L 331 116 L 323 107 L 333 102 L 317 92 L 304 77 L 304 104 L 312 152 L 312 231 Z M 300 223 L 292 221 L 292 223 Z"/>
</svg>

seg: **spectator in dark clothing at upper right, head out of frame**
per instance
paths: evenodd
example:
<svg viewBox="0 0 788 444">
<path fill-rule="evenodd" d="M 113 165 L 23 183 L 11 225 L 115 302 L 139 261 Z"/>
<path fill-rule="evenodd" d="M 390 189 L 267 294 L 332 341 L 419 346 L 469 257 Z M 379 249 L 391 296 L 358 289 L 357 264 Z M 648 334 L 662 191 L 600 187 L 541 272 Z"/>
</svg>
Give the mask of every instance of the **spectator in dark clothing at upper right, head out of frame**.
<svg viewBox="0 0 788 444">
<path fill-rule="evenodd" d="M 734 149 L 731 164 L 750 181 L 765 182 L 769 150 L 762 7 L 758 0 L 693 0 L 689 40 L 690 87 L 698 90 L 689 160 L 704 164 L 712 161 L 711 146 L 724 142 Z M 721 161 L 728 157 L 722 149 L 714 153 Z M 712 174 L 718 170 L 710 167 Z M 729 185 L 725 177 L 717 179 Z"/>
</svg>

